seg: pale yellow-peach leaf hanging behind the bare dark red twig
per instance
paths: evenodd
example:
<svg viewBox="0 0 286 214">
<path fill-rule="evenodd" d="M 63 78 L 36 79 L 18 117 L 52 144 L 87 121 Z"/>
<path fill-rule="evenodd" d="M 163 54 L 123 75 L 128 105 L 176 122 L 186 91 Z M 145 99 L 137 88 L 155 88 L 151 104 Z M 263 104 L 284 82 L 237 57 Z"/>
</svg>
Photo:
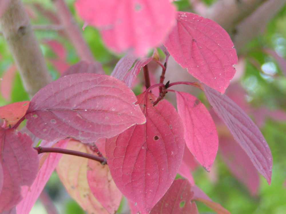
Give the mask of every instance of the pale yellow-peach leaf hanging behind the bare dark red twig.
<svg viewBox="0 0 286 214">
<path fill-rule="evenodd" d="M 70 141 L 67 149 L 92 153 L 88 146 L 78 141 Z M 87 213 L 108 214 L 92 194 L 88 185 L 88 170 L 88 159 L 77 156 L 63 155 L 57 166 L 57 173 L 67 192 Z"/>
</svg>

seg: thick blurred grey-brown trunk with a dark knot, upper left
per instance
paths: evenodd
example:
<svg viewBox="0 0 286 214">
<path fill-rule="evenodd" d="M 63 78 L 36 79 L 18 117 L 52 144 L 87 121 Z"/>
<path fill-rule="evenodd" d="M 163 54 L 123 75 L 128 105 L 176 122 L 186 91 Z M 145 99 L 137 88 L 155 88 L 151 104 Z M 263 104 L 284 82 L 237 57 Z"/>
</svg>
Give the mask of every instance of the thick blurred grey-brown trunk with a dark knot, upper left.
<svg viewBox="0 0 286 214">
<path fill-rule="evenodd" d="M 11 0 L 0 17 L 0 25 L 25 90 L 33 96 L 52 79 L 21 0 Z"/>
</svg>

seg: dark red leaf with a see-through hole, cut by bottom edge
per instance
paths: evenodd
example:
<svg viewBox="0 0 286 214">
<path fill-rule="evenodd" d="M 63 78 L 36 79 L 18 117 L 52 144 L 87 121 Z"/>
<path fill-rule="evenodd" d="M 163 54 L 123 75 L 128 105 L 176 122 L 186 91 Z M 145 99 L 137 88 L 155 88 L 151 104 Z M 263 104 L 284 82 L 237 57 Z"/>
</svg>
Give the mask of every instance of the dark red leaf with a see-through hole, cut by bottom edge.
<svg viewBox="0 0 286 214">
<path fill-rule="evenodd" d="M 198 214 L 196 203 L 191 201 L 193 196 L 188 180 L 174 180 L 150 214 Z"/>
</svg>

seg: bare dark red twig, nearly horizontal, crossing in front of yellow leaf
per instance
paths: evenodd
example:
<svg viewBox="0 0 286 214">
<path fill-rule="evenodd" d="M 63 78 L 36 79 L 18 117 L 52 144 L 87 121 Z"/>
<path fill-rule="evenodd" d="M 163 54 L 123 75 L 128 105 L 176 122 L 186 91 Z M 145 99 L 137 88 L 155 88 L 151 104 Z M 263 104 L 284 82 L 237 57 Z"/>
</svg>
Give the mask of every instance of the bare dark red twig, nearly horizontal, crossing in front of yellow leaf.
<svg viewBox="0 0 286 214">
<path fill-rule="evenodd" d="M 95 160 L 100 162 L 102 165 L 107 164 L 106 158 L 95 156 L 92 154 L 84 153 L 84 152 L 78 152 L 74 150 L 68 150 L 68 149 L 62 149 L 62 148 L 47 148 L 47 147 L 34 147 L 35 150 L 37 150 L 38 154 L 45 153 L 45 152 L 55 152 L 55 153 L 61 153 L 61 154 L 67 154 L 67 155 L 74 155 L 79 156 L 83 158 L 88 158 L 91 160 Z"/>
</svg>

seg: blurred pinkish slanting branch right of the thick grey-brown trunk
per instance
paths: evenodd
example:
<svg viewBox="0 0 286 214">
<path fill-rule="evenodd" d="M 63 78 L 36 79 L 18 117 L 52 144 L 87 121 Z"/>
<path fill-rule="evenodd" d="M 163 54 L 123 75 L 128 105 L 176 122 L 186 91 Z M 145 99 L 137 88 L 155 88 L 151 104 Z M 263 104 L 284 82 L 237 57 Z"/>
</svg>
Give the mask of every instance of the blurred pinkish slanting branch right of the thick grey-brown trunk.
<svg viewBox="0 0 286 214">
<path fill-rule="evenodd" d="M 69 37 L 69 40 L 74 45 L 78 56 L 85 61 L 94 62 L 94 57 L 82 37 L 82 33 L 74 18 L 69 11 L 69 8 L 65 4 L 64 0 L 54 0 L 55 7 L 57 8 L 57 14 L 61 20 L 61 24 L 65 28 L 66 35 Z"/>
</svg>

